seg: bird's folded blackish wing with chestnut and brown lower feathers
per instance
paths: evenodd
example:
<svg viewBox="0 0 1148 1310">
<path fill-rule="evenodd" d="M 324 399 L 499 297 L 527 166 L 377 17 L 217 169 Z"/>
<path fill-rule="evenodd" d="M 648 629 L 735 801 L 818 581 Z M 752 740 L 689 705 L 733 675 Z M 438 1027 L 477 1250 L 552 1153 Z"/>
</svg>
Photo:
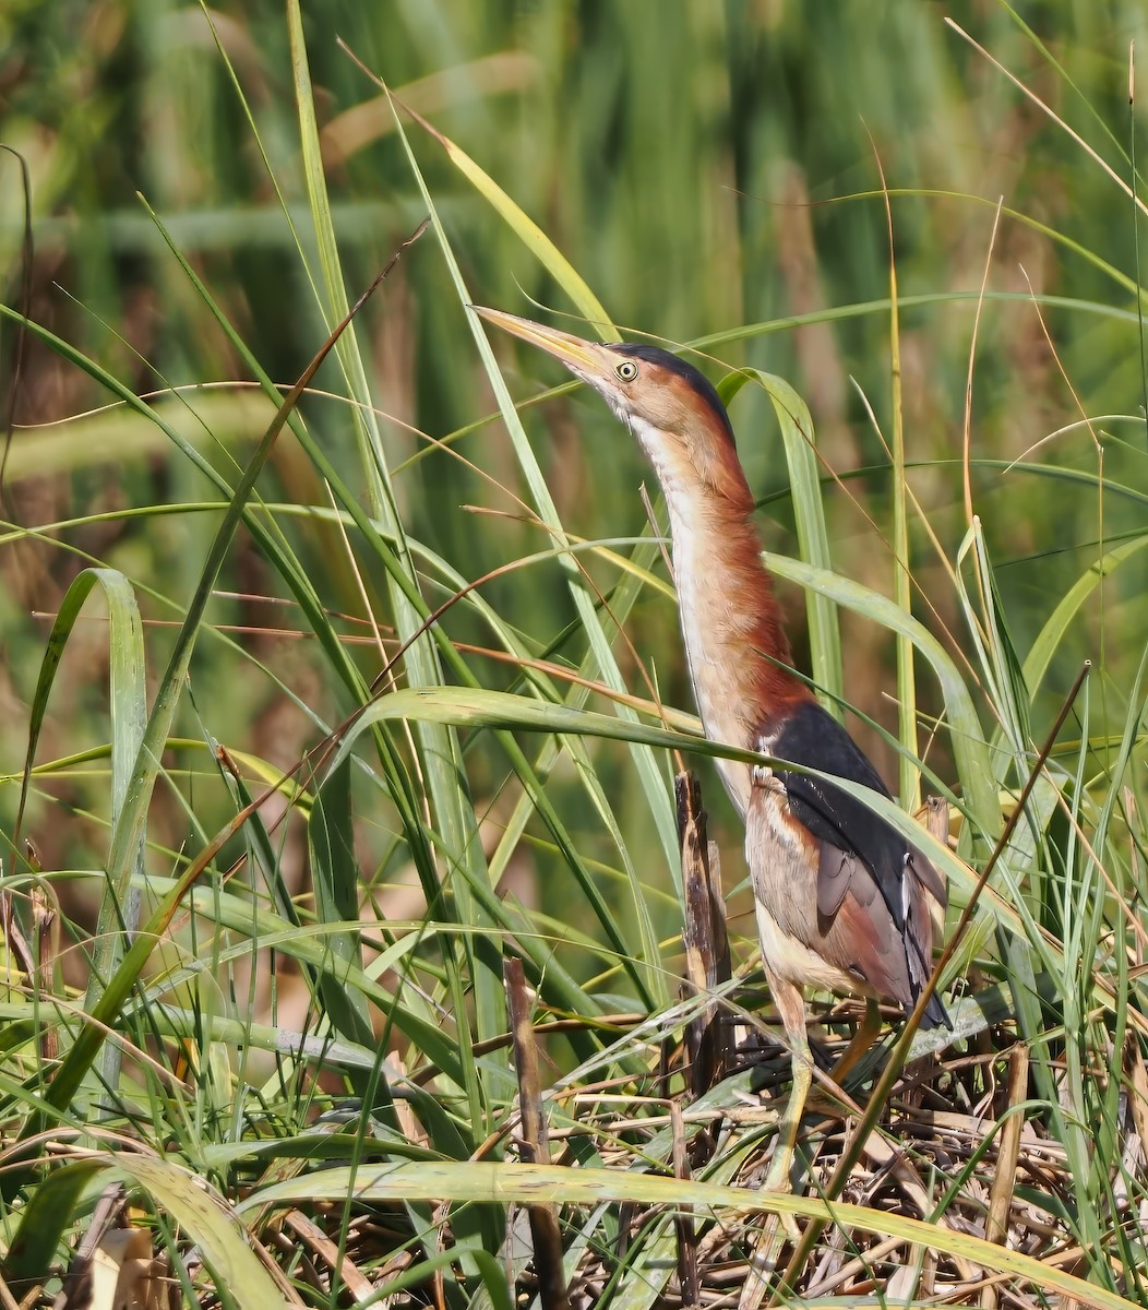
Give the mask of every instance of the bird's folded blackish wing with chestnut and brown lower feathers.
<svg viewBox="0 0 1148 1310">
<path fill-rule="evenodd" d="M 781 730 L 771 734 L 770 751 L 779 760 L 804 764 L 889 796 L 860 747 L 816 701 L 805 701 L 787 715 Z M 908 907 L 907 872 L 945 903 L 944 883 L 929 861 L 863 802 L 804 773 L 779 769 L 778 778 L 785 786 L 793 817 L 821 841 L 818 913 L 827 917 L 836 913 L 857 871 L 857 861 L 872 874 L 901 930 Z"/>
</svg>

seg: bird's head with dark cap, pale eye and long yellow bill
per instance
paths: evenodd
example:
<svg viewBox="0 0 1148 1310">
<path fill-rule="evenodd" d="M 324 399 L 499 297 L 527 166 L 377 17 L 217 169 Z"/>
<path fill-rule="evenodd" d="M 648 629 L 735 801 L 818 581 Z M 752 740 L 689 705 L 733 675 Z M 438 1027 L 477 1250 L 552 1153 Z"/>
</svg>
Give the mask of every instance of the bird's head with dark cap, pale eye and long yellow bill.
<svg viewBox="0 0 1148 1310">
<path fill-rule="evenodd" d="M 487 322 L 538 346 L 598 392 L 641 443 L 668 496 L 721 495 L 753 500 L 745 483 L 729 415 L 709 380 L 692 364 L 656 346 L 601 345 L 475 307 Z"/>
</svg>

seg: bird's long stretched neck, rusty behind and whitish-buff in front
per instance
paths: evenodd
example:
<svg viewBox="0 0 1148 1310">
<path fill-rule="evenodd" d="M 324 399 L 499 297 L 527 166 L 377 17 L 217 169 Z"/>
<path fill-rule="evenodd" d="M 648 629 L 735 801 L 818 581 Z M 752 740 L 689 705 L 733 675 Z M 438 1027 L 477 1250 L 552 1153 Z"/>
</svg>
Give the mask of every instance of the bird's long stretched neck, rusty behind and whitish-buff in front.
<svg viewBox="0 0 1148 1310">
<path fill-rule="evenodd" d="M 664 490 L 682 635 L 706 735 L 754 749 L 775 714 L 812 693 L 789 672 L 789 642 L 751 521 L 753 496 L 737 473 L 721 493 Z M 726 761 L 719 769 L 744 811 L 749 768 Z"/>
</svg>

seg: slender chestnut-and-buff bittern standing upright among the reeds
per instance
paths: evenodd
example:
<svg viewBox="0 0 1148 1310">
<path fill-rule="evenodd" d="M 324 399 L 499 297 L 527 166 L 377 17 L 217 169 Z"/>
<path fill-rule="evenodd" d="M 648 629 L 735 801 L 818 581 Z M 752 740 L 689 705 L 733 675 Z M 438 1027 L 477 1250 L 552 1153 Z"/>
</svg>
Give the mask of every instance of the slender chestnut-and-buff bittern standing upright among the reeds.
<svg viewBox="0 0 1148 1310">
<path fill-rule="evenodd" d="M 944 907 L 945 884 L 891 824 L 826 777 L 889 796 L 861 748 L 793 668 L 733 426 L 706 375 L 656 346 L 584 341 L 517 314 L 474 309 L 560 360 L 636 438 L 665 498 L 686 664 L 706 736 L 776 761 L 719 758 L 717 769 L 745 823 L 762 965 L 793 1057 L 764 1179 L 767 1189 L 784 1191 L 813 1076 L 805 988 L 864 997 L 859 1040 L 872 1041 L 877 1002 L 908 1013 L 928 981 L 929 897 Z M 922 1027 L 942 1024 L 952 1027 L 933 994 Z M 851 1062 L 850 1051 L 835 1076 Z"/>
</svg>

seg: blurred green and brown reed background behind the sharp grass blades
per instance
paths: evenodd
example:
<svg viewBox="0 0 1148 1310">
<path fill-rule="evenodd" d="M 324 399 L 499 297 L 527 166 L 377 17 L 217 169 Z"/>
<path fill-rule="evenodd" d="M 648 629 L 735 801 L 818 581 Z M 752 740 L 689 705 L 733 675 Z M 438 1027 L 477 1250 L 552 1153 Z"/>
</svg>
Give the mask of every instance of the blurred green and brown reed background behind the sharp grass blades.
<svg viewBox="0 0 1148 1310">
<path fill-rule="evenodd" d="M 326 326 L 300 254 L 313 254 L 314 231 L 283 8 L 223 4 L 211 18 L 215 31 L 195 5 L 165 0 L 8 0 L 0 10 L 0 138 L 30 176 L 31 317 L 153 397 L 234 481 L 236 461 L 250 455 L 271 409 L 251 388 L 208 385 L 251 375 L 136 193 L 272 379 L 289 385 Z M 889 592 L 894 406 L 884 174 L 894 193 L 903 297 L 906 458 L 923 510 L 911 525 L 918 613 L 948 630 L 952 646 L 967 646 L 924 523 L 952 557 L 967 527 L 962 432 L 986 266 L 970 486 L 1021 652 L 1089 565 L 1143 524 L 1144 369 L 1134 280 L 1144 220 L 1118 181 L 1131 177 L 1128 51 L 1144 35 L 1143 5 L 331 0 L 305 5 L 304 20 L 352 297 L 425 206 L 390 107 L 338 38 L 505 189 L 615 322 L 672 343 L 724 334 L 708 347 L 721 365 L 753 364 L 793 383 L 817 424 L 835 566 Z M 535 317 L 546 309 L 531 301 L 569 310 L 441 145 L 410 121 L 406 130 L 473 297 Z M 1004 212 L 994 233 L 999 199 Z M 5 301 L 17 308 L 22 221 L 20 166 L 4 156 L 0 270 Z M 514 499 L 524 485 L 501 426 L 473 426 L 493 402 L 432 236 L 407 252 L 359 333 L 408 536 L 467 579 L 545 549 L 545 534 L 524 521 Z M 495 345 L 516 397 L 562 381 L 548 362 Z M 0 351 L 10 396 L 21 352 L 10 317 Z M 93 414 L 110 397 L 60 352 L 25 339 L 21 359 L 4 481 L 10 529 L 0 538 L 0 772 L 9 776 L 22 766 L 48 626 L 42 616 L 55 612 L 75 574 L 92 559 L 123 570 L 149 621 L 149 668 L 161 668 L 169 642 L 162 625 L 187 603 L 217 521 L 215 512 L 126 515 L 215 494 L 157 428 L 123 410 Z M 713 377 L 725 371 L 706 367 Z M 326 365 L 317 386 L 332 394 L 305 401 L 308 426 L 351 485 L 361 485 L 336 369 Z M 165 394 L 171 388 L 187 388 L 182 401 Z M 734 426 L 766 504 L 764 540 L 792 553 L 785 465 L 768 405 L 753 390 L 738 396 Z M 605 407 L 577 394 L 531 410 L 526 423 L 569 532 L 641 532 L 637 493 L 651 476 Z M 1009 466 L 1013 460 L 1022 464 Z M 260 491 L 280 503 L 330 503 L 288 436 Z M 60 527 L 65 520 L 82 521 Z M 276 521 L 329 608 L 346 616 L 340 629 L 369 638 L 360 583 L 330 523 L 287 514 Z M 592 569 L 603 586 L 617 579 L 617 570 Z M 386 625 L 380 583 L 368 569 L 363 586 Z M 1144 565 L 1132 559 L 1093 597 L 1054 660 L 1037 700 L 1042 713 L 1051 714 L 1088 654 L 1103 664 L 1106 715 L 1121 724 L 1144 643 Z M 271 604 L 284 587 L 243 536 L 221 590 L 230 595 L 212 603 L 219 635 L 196 652 L 181 731 L 289 766 L 315 740 L 315 717 L 335 722 L 351 706 L 314 642 L 272 631 L 300 622 L 291 608 Z M 432 607 L 446 596 L 435 582 L 424 591 Z M 484 593 L 539 652 L 573 617 L 554 561 Z M 801 597 L 787 597 L 800 629 Z M 446 622 L 459 642 L 486 641 L 462 607 Z M 870 622 L 843 622 L 847 694 L 895 732 L 891 638 Z M 666 701 L 690 709 L 670 603 L 643 596 L 627 630 Z M 577 659 L 579 641 L 559 654 Z M 619 658 L 635 693 L 647 694 L 634 656 Z M 473 659 L 486 685 L 511 685 L 513 671 Z M 107 740 L 106 660 L 106 633 L 92 618 L 68 643 L 38 758 Z M 378 668 L 369 641 L 361 662 L 369 680 Z M 939 709 L 927 686 L 922 694 L 927 713 Z M 864 726 L 859 735 L 894 781 L 893 752 Z M 944 774 L 946 757 L 940 744 L 937 751 L 932 758 Z M 630 799 L 636 787 L 624 753 L 596 753 L 619 814 L 640 833 L 649 816 L 639 794 Z M 158 798 L 165 817 L 152 829 L 153 841 L 162 832 L 173 849 L 194 825 L 212 831 L 233 812 L 217 781 L 202 778 L 188 760 L 175 753 L 169 761 L 170 787 Z M 471 789 L 497 823 L 501 774 L 480 757 L 473 768 Z M 45 867 L 101 863 L 105 829 L 88 811 L 99 810 L 102 787 L 99 770 L 82 768 L 45 783 L 26 827 Z M 14 790 L 0 789 L 5 827 Z M 708 799 L 724 812 L 716 786 Z M 573 785 L 567 800 L 588 806 Z M 583 819 L 590 855 L 600 838 L 593 815 Z M 601 846 L 609 854 L 609 842 Z M 520 892 L 528 897 L 533 878 L 524 867 Z"/>
</svg>

